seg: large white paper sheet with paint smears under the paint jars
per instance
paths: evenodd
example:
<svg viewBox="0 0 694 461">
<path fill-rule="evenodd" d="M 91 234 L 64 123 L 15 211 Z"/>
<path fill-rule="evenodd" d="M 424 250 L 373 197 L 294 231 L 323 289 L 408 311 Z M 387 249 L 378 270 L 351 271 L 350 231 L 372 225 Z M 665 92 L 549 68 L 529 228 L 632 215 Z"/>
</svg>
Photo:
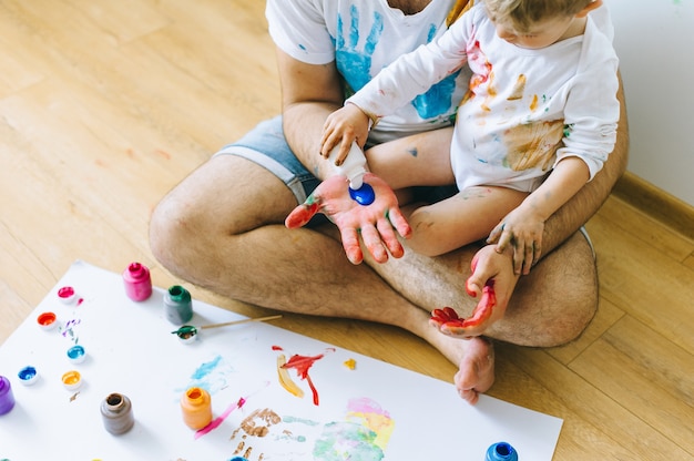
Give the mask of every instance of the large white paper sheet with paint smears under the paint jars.
<svg viewBox="0 0 694 461">
<path fill-rule="evenodd" d="M 62 304 L 57 291 L 63 286 L 74 287 L 83 301 Z M 520 460 L 552 459 L 561 419 L 487 396 L 471 407 L 449 382 L 265 322 L 202 330 L 185 345 L 171 334 L 177 327 L 164 317 L 163 293 L 155 288 L 150 299 L 134 303 L 120 274 L 72 265 L 0 347 L 0 375 L 10 379 L 17 400 L 0 416 L 0 460 L 458 461 L 483 460 L 499 441 L 513 445 Z M 193 308 L 195 326 L 244 318 L 197 300 Z M 39 327 L 43 311 L 58 315 L 58 328 Z M 86 350 L 79 365 L 67 357 L 75 342 Z M 279 354 L 323 355 L 308 370 L 317 406 L 308 380 L 295 370 L 289 373 L 303 398 L 279 385 Z M 348 359 L 356 369 L 344 365 Z M 39 372 L 30 387 L 18 378 L 28 365 Z M 83 378 L 79 393 L 61 382 L 72 369 Z M 197 439 L 178 403 L 194 385 L 212 395 L 215 418 L 245 399 Z M 122 436 L 102 422 L 100 404 L 111 392 L 132 401 L 135 426 Z M 251 427 L 267 427 L 267 434 L 249 436 L 244 428 Z"/>
</svg>

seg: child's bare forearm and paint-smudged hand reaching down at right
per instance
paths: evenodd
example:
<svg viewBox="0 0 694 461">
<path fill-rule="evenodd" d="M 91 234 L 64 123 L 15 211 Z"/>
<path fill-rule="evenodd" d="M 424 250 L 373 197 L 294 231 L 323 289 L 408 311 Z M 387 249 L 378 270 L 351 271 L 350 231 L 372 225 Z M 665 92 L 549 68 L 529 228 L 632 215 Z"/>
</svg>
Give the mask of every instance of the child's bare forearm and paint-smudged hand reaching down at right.
<svg viewBox="0 0 694 461">
<path fill-rule="evenodd" d="M 528 274 L 542 253 L 544 222 L 585 185 L 590 172 L 585 162 L 570 156 L 561 160 L 547 180 L 523 203 L 509 213 L 489 234 L 488 243 L 502 253 L 513 246 L 516 274 Z"/>
</svg>

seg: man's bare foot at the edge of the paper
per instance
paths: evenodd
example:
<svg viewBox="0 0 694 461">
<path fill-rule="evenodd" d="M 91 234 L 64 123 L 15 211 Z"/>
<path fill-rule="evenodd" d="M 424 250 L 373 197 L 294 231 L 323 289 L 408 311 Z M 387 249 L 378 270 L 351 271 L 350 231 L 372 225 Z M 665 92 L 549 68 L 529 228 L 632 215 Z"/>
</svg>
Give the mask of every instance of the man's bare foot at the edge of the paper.
<svg viewBox="0 0 694 461">
<path fill-rule="evenodd" d="M 460 397 L 474 404 L 479 395 L 487 392 L 494 383 L 494 348 L 489 339 L 482 337 L 463 341 L 465 352 L 453 382 Z"/>
</svg>

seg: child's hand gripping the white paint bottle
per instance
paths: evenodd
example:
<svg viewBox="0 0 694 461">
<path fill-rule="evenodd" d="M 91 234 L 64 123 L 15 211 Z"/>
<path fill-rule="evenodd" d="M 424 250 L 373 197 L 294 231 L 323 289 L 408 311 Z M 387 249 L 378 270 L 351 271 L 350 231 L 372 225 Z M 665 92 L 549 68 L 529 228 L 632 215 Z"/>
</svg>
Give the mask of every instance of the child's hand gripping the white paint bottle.
<svg viewBox="0 0 694 461">
<path fill-rule="evenodd" d="M 329 157 L 333 148 L 339 145 L 339 153 L 335 157 L 335 165 L 339 166 L 347 158 L 351 143 L 356 140 L 364 147 L 368 135 L 369 117 L 358 106 L 346 104 L 326 119 L 320 137 L 320 155 Z"/>
</svg>

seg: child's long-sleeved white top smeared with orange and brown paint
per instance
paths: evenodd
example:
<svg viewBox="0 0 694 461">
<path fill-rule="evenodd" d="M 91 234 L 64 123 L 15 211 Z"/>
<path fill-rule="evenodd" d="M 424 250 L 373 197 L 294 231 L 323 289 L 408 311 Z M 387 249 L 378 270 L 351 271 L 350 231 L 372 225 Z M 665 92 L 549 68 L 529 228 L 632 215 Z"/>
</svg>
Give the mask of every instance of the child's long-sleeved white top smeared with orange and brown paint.
<svg viewBox="0 0 694 461">
<path fill-rule="evenodd" d="M 529 50 L 500 39 L 478 4 L 348 101 L 386 115 L 463 68 L 472 76 L 451 145 L 460 189 L 503 185 L 531 192 L 568 156 L 582 158 L 591 178 L 602 168 L 620 117 L 606 7 L 589 14 L 582 35 Z"/>
</svg>

